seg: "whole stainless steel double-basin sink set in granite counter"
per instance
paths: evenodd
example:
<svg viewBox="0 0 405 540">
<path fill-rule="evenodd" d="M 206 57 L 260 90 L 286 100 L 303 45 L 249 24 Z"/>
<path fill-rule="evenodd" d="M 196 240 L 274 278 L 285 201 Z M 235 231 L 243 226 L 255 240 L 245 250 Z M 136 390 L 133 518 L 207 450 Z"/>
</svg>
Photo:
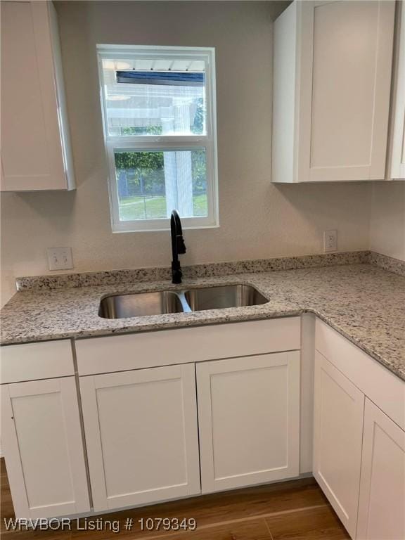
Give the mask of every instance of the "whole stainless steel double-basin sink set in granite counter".
<svg viewBox="0 0 405 540">
<path fill-rule="evenodd" d="M 252 285 L 213 285 L 176 291 L 106 296 L 100 302 L 98 315 L 104 319 L 123 319 L 203 309 L 257 306 L 266 302 L 269 300 Z"/>
</svg>

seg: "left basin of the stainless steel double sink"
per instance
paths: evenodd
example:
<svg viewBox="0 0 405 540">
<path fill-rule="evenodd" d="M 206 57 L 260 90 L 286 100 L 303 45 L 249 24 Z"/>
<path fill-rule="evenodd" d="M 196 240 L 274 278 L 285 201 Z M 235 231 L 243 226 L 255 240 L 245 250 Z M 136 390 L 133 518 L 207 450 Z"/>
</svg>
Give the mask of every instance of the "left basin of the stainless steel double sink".
<svg viewBox="0 0 405 540">
<path fill-rule="evenodd" d="M 100 302 L 98 315 L 104 319 L 122 319 L 182 311 L 184 310 L 179 296 L 171 290 L 161 290 L 157 293 L 107 296 Z"/>
</svg>

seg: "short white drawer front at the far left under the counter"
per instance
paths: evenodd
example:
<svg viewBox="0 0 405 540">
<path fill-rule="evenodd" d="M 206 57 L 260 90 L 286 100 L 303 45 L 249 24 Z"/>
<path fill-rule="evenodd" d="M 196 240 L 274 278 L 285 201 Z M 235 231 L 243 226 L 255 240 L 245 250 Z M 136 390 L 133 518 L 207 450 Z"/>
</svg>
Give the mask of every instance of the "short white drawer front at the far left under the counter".
<svg viewBox="0 0 405 540">
<path fill-rule="evenodd" d="M 7 345 L 0 358 L 2 384 L 75 374 L 70 340 Z"/>
</svg>

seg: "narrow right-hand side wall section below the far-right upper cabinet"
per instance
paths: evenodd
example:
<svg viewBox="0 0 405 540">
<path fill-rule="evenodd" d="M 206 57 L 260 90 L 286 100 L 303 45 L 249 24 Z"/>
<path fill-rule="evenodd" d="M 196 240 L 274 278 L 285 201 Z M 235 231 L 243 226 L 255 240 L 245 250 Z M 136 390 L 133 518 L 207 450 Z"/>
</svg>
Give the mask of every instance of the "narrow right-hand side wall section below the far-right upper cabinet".
<svg viewBox="0 0 405 540">
<path fill-rule="evenodd" d="M 373 184 L 370 249 L 405 261 L 405 182 Z"/>
</svg>

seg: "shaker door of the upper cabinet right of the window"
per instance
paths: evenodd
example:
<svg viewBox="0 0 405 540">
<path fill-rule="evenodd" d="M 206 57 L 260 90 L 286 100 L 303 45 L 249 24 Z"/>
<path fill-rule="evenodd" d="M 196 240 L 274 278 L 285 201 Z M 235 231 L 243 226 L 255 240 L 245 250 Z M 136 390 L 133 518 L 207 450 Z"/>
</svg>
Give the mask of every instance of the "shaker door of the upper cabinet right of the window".
<svg viewBox="0 0 405 540">
<path fill-rule="evenodd" d="M 299 4 L 298 179 L 383 180 L 394 2 Z"/>
</svg>

